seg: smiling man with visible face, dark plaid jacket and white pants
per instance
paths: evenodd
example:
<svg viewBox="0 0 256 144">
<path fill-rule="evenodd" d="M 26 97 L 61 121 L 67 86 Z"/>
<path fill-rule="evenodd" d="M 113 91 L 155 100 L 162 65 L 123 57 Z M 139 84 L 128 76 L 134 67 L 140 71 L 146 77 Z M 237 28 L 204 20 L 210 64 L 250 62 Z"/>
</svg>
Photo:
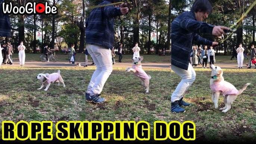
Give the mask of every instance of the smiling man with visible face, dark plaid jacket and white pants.
<svg viewBox="0 0 256 144">
<path fill-rule="evenodd" d="M 183 101 L 183 95 L 196 79 L 196 72 L 189 63 L 192 44 L 194 41 L 207 46 L 215 46 L 218 43 L 206 40 L 197 33 L 209 33 L 216 36 L 225 35 L 224 26 L 213 26 L 203 22 L 212 13 L 212 5 L 208 0 L 195 0 L 190 12 L 184 12 L 172 22 L 172 71 L 181 78 L 176 90 L 171 96 L 171 112 L 183 113 L 183 106 L 190 103 Z"/>
</svg>

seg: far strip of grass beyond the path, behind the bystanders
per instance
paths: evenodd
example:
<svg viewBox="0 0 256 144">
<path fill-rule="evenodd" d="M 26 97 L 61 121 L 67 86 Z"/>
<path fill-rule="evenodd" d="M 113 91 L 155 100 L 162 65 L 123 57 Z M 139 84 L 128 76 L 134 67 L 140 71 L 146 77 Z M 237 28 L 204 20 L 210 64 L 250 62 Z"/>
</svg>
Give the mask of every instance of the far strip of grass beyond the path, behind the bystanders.
<svg viewBox="0 0 256 144">
<path fill-rule="evenodd" d="M 40 61 L 41 55 L 42 55 L 41 53 L 36 53 L 36 54 L 26 53 L 25 60 Z M 68 61 L 69 60 L 68 55 L 65 55 L 65 54 L 62 55 L 61 53 L 56 53 L 56 56 L 58 57 L 59 61 Z M 79 62 L 85 62 L 85 54 L 78 53 L 75 56 L 75 60 L 78 60 L 79 56 L 81 56 L 79 59 Z M 151 54 L 151 55 L 142 54 L 141 56 L 144 57 L 143 62 L 150 62 L 150 63 L 170 63 L 171 62 L 171 56 L 169 54 L 167 54 L 166 56 L 158 56 L 157 54 Z M 131 62 L 131 57 L 132 57 L 131 54 L 124 54 L 122 62 Z M 232 56 L 216 55 L 215 60 L 217 63 L 237 63 L 237 60 L 235 58 L 233 60 L 230 60 L 231 57 Z M 250 56 L 248 56 L 248 57 L 250 60 Z M 19 60 L 18 53 L 14 53 L 12 56 L 12 59 Z M 118 62 L 118 59 L 119 59 L 119 55 L 116 54 L 115 61 Z M 88 60 L 90 62 L 92 61 L 90 55 L 88 56 Z M 250 62 L 249 60 L 248 60 L 248 62 Z M 246 62 L 245 57 L 244 57 L 244 62 Z"/>
</svg>

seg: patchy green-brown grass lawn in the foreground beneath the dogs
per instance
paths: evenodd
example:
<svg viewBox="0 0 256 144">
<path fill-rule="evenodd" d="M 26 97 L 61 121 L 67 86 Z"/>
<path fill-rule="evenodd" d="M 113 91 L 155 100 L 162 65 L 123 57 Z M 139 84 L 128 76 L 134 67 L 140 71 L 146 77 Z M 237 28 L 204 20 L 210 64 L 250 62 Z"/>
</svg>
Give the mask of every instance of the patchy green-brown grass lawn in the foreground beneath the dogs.
<svg viewBox="0 0 256 144">
<path fill-rule="evenodd" d="M 138 78 L 125 69 L 114 69 L 108 78 L 102 97 L 104 104 L 85 103 L 85 90 L 94 68 L 61 68 L 66 87 L 51 84 L 48 91 L 35 79 L 38 73 L 57 72 L 54 68 L 1 68 L 0 73 L 0 122 L 3 120 L 50 120 L 53 128 L 60 120 L 132 121 L 149 122 L 153 135 L 154 121 L 192 121 L 196 124 L 197 140 L 238 142 L 256 140 L 256 90 L 253 70 L 224 69 L 224 78 L 238 90 L 247 82 L 252 83 L 238 96 L 231 110 L 222 113 L 214 109 L 209 88 L 210 69 L 195 69 L 197 78 L 184 95 L 191 103 L 182 114 L 171 113 L 171 94 L 181 78 L 171 69 L 144 69 L 150 80 L 149 93 Z M 72 73 L 72 76 L 71 76 Z M 219 107 L 224 107 L 223 97 Z M 53 129 L 55 137 L 56 129 Z M 1 133 L 1 125 L 0 125 Z M 112 135 L 111 135 L 112 136 Z M 101 135 L 99 135 L 101 138 Z M 41 139 L 39 137 L 39 139 Z M 150 141 L 153 142 L 153 137 Z M 1 140 L 1 137 L 0 137 Z M 149 142 L 150 142 L 149 141 Z"/>
</svg>

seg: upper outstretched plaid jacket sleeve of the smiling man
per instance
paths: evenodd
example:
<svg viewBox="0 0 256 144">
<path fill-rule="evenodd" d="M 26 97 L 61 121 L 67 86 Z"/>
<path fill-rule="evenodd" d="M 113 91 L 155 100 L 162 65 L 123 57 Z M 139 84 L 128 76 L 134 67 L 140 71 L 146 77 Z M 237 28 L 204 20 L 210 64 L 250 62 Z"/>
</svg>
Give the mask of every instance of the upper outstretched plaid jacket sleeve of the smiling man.
<svg viewBox="0 0 256 144">
<path fill-rule="evenodd" d="M 207 24 L 206 22 L 199 22 L 194 20 L 194 16 L 188 13 L 179 22 L 179 26 L 186 29 L 187 31 L 196 33 L 209 33 L 212 34 L 213 25 Z"/>
</svg>

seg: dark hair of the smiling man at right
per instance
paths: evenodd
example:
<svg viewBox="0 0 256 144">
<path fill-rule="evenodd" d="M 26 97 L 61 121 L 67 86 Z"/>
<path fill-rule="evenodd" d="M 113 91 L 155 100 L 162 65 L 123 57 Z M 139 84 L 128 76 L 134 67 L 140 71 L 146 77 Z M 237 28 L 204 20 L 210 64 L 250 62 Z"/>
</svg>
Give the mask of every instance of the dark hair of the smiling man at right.
<svg viewBox="0 0 256 144">
<path fill-rule="evenodd" d="M 191 8 L 194 12 L 207 12 L 208 15 L 212 13 L 212 4 L 208 0 L 195 0 Z"/>
</svg>

